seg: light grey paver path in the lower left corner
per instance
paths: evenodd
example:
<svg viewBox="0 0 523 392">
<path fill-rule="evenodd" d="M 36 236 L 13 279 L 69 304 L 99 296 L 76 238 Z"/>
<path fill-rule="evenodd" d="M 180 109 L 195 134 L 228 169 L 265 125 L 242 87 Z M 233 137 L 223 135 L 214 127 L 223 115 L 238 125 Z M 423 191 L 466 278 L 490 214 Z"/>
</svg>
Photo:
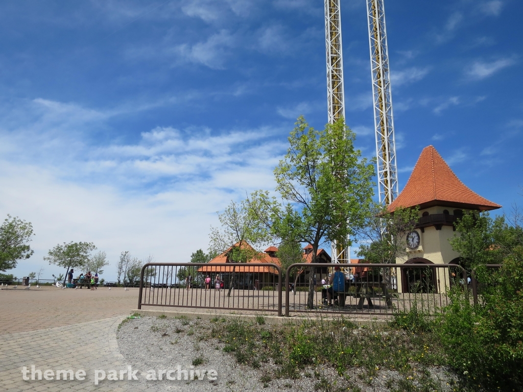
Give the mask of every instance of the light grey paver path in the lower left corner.
<svg viewBox="0 0 523 392">
<path fill-rule="evenodd" d="M 95 369 L 126 368 L 118 351 L 116 330 L 123 317 L 82 322 L 63 327 L 39 329 L 36 331 L 8 333 L 0 336 L 0 390 L 18 392 L 61 391 L 61 390 L 100 390 L 124 391 L 126 382 L 94 384 Z M 25 381 L 22 368 L 29 370 Z M 35 380 L 31 378 L 31 366 L 42 372 Z M 46 370 L 84 370 L 84 381 L 69 378 L 64 381 L 46 381 Z M 63 377 L 61 377 L 63 378 Z M 76 377 L 75 377 L 76 378 Z"/>
</svg>

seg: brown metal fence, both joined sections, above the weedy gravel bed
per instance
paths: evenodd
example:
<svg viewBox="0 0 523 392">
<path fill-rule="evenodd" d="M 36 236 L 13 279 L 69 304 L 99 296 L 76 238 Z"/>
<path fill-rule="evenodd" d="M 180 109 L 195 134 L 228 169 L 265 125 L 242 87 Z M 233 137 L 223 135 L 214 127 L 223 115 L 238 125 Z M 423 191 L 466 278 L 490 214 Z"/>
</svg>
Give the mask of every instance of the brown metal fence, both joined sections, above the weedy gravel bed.
<svg viewBox="0 0 523 392">
<path fill-rule="evenodd" d="M 346 279 L 343 290 L 329 297 L 321 281 L 336 266 Z M 285 307 L 286 316 L 303 312 L 390 316 L 417 308 L 436 314 L 449 304 L 450 287 L 469 293 L 467 272 L 457 264 L 299 263 L 287 269 L 286 284 L 280 284 L 282 278 L 277 264 L 149 263 L 141 272 L 138 308 L 260 310 L 281 315 Z"/>
</svg>

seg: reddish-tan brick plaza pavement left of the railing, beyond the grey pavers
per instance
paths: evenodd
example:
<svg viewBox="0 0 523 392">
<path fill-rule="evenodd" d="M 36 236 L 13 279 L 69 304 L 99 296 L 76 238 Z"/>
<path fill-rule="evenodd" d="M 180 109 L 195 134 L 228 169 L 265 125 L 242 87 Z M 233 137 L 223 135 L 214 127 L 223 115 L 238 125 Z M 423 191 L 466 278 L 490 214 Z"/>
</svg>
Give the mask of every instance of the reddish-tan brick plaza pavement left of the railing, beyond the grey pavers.
<svg viewBox="0 0 523 392">
<path fill-rule="evenodd" d="M 0 291 L 0 335 L 128 315 L 137 304 L 138 289 L 9 288 Z"/>
</svg>

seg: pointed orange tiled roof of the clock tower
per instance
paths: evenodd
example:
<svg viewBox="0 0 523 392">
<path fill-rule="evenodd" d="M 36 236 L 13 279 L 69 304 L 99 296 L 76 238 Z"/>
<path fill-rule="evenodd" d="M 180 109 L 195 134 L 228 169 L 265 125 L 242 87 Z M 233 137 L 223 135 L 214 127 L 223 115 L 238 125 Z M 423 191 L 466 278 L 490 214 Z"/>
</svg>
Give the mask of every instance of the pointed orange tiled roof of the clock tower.
<svg viewBox="0 0 523 392">
<path fill-rule="evenodd" d="M 439 205 L 480 211 L 501 207 L 464 185 L 434 146 L 423 149 L 405 188 L 391 203 L 389 211 L 394 211 L 399 206 L 416 205 L 421 209 Z"/>
</svg>

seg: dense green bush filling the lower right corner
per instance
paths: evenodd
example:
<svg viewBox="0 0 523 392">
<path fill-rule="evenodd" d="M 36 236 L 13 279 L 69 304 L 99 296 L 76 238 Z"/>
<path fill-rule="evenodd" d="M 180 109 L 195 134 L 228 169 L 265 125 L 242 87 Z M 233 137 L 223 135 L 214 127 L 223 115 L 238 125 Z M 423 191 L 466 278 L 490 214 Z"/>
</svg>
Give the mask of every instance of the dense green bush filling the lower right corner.
<svg viewBox="0 0 523 392">
<path fill-rule="evenodd" d="M 498 272 L 479 272 L 481 303 L 452 290 L 441 318 L 449 365 L 476 389 L 523 390 L 523 263 L 509 257 Z"/>
</svg>

